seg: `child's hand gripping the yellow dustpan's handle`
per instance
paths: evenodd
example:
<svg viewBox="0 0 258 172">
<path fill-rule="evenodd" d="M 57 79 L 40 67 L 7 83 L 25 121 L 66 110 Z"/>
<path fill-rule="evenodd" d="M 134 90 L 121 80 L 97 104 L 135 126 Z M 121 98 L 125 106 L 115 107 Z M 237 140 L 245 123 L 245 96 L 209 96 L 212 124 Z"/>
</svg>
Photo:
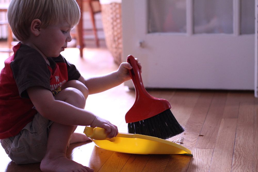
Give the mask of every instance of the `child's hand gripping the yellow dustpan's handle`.
<svg viewBox="0 0 258 172">
<path fill-rule="evenodd" d="M 108 120 L 100 118 L 98 116 L 96 116 L 96 118 L 92 121 L 91 127 L 100 127 L 106 129 L 106 133 L 108 133 L 108 138 L 113 138 L 118 134 L 117 126 L 111 124 Z"/>
</svg>

